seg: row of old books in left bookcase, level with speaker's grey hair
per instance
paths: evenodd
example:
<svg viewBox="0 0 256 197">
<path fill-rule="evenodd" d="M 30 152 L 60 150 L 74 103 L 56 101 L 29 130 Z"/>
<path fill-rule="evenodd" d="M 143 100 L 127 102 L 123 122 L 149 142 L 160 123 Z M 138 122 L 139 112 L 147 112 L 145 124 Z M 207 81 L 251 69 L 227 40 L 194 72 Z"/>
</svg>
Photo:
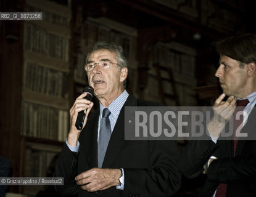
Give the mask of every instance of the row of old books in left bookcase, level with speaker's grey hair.
<svg viewBox="0 0 256 197">
<path fill-rule="evenodd" d="M 23 49 L 68 62 L 69 39 L 31 23 L 24 25 Z"/>
</svg>

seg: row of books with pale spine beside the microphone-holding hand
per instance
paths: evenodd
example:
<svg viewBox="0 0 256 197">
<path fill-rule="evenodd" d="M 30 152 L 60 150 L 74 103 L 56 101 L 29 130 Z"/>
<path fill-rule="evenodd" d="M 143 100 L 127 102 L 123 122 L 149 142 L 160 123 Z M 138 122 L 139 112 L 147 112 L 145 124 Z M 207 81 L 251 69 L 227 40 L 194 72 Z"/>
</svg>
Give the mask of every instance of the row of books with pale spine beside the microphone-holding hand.
<svg viewBox="0 0 256 197">
<path fill-rule="evenodd" d="M 21 134 L 24 136 L 64 142 L 68 123 L 68 111 L 22 102 Z"/>
</svg>

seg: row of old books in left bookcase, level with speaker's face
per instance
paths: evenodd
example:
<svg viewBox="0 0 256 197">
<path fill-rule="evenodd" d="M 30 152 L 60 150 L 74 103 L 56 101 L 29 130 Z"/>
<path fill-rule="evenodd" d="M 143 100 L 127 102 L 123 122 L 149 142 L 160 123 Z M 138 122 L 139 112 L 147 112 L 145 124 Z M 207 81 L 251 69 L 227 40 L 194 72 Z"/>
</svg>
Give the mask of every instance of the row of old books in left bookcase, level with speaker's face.
<svg viewBox="0 0 256 197">
<path fill-rule="evenodd" d="M 31 90 L 59 98 L 68 98 L 68 73 L 25 61 L 23 90 Z"/>
</svg>

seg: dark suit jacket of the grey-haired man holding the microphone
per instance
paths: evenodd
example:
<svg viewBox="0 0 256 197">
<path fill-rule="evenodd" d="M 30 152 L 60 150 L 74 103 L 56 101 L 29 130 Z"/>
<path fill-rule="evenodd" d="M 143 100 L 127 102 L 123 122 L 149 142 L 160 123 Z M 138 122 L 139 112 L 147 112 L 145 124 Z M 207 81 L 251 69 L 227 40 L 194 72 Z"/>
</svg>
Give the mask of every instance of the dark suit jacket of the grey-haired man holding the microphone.
<svg viewBox="0 0 256 197">
<path fill-rule="evenodd" d="M 155 106 L 155 103 L 129 96 L 125 106 Z M 124 140 L 124 107 L 112 132 L 102 168 L 123 168 L 125 188 L 111 187 L 89 193 L 76 185 L 75 176 L 97 167 L 97 127 L 99 110 L 88 118 L 80 134 L 80 150 L 73 153 L 64 144 L 56 164 L 56 177 L 64 177 L 64 186 L 56 187 L 62 194 L 78 192 L 78 196 L 171 196 L 180 188 L 176 142 L 157 140 Z"/>
</svg>

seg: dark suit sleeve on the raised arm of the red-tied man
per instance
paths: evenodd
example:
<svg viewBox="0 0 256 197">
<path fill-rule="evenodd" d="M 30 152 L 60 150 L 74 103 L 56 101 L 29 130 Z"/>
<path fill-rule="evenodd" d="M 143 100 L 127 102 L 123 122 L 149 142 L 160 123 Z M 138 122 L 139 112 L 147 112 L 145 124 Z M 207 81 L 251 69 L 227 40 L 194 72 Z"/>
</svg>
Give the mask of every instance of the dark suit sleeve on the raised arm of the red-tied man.
<svg viewBox="0 0 256 197">
<path fill-rule="evenodd" d="M 215 144 L 212 140 L 189 141 L 180 151 L 178 167 L 181 173 L 189 179 L 200 175 L 204 171 L 205 163 L 217 148 L 218 143 Z"/>
</svg>

